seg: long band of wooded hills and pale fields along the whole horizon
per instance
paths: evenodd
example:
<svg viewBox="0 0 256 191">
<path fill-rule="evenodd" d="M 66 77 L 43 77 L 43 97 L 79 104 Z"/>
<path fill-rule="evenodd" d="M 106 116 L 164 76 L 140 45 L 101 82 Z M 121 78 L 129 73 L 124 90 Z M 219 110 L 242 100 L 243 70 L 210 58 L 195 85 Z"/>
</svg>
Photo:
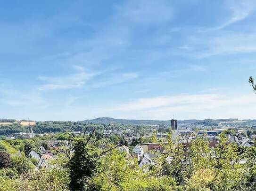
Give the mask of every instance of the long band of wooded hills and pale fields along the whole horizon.
<svg viewBox="0 0 256 191">
<path fill-rule="evenodd" d="M 45 133 L 45 132 L 66 132 L 66 131 L 76 131 L 83 130 L 85 124 L 90 124 L 89 127 L 93 129 L 97 126 L 98 130 L 111 129 L 112 125 L 115 124 L 119 129 L 125 130 L 127 126 L 140 126 L 140 132 L 142 130 L 147 130 L 147 126 L 152 125 L 165 125 L 170 126 L 171 121 L 160 121 L 160 120 L 128 120 L 128 119 L 114 119 L 109 117 L 96 118 L 92 120 L 84 120 L 80 122 L 72 121 L 46 121 L 46 122 L 33 122 L 33 132 L 34 133 Z M 30 132 L 30 123 L 21 123 L 21 121 L 1 119 L 0 120 L 0 135 L 7 135 L 17 132 Z M 238 119 L 205 119 L 205 120 L 184 120 L 178 121 L 178 124 L 183 128 L 191 128 L 191 124 L 194 126 L 200 126 L 200 128 L 205 129 L 207 127 L 215 128 L 219 124 L 226 127 L 253 127 L 256 126 L 256 120 L 238 120 Z M 133 127 L 131 127 L 133 129 Z"/>
</svg>

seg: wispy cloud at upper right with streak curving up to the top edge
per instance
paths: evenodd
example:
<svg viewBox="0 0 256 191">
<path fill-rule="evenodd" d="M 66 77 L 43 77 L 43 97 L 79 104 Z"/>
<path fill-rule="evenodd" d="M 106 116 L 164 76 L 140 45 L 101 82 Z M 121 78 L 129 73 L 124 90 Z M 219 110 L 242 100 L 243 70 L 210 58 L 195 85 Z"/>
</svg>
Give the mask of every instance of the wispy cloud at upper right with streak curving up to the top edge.
<svg viewBox="0 0 256 191">
<path fill-rule="evenodd" d="M 204 58 L 215 55 L 256 52 L 255 28 L 246 31 L 222 30 L 227 26 L 246 19 L 256 11 L 255 0 L 228 0 L 225 4 L 231 16 L 219 26 L 206 28 L 191 34 L 184 45 L 174 54 Z"/>
</svg>

